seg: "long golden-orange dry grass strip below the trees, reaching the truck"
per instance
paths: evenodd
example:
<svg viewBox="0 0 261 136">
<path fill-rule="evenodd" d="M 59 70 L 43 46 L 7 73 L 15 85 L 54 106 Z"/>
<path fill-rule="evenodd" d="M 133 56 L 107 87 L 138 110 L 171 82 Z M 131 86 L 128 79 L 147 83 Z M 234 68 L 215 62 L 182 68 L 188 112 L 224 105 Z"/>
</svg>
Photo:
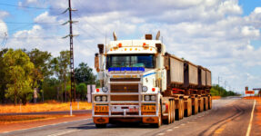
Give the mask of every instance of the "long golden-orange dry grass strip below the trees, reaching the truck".
<svg viewBox="0 0 261 136">
<path fill-rule="evenodd" d="M 73 110 L 90 110 L 92 109 L 92 103 L 73 102 Z M 69 111 L 70 102 L 46 102 L 37 104 L 26 104 L 26 105 L 0 105 L 0 113 L 10 112 L 58 112 L 58 111 Z"/>
</svg>

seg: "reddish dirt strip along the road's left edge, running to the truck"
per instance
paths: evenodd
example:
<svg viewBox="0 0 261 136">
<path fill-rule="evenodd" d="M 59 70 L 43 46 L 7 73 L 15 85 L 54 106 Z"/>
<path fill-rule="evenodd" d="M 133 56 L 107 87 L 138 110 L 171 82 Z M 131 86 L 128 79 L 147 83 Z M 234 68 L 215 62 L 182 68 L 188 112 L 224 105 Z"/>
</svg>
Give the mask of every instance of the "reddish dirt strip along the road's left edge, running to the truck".
<svg viewBox="0 0 261 136">
<path fill-rule="evenodd" d="M 10 123 L 10 124 L 0 124 L 0 133 L 5 131 L 18 131 L 23 129 L 30 129 L 35 128 L 39 126 L 44 125 L 50 125 L 65 121 L 78 121 L 91 118 L 91 114 L 77 114 L 72 117 L 61 117 L 57 119 L 50 119 L 50 120 L 44 120 L 44 121 L 25 121 L 25 122 L 19 122 L 19 123 Z"/>
</svg>

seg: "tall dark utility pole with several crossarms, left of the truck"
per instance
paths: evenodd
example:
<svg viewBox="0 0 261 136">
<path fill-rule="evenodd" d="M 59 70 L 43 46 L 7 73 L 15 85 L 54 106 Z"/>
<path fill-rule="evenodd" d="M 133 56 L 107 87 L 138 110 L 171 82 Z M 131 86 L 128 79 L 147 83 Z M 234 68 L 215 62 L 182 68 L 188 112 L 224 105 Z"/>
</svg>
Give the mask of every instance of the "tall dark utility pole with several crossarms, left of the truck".
<svg viewBox="0 0 261 136">
<path fill-rule="evenodd" d="M 74 34 L 73 34 L 73 24 L 76 23 L 75 21 L 72 20 L 72 11 L 76 11 L 72 9 L 71 6 L 71 0 L 68 0 L 68 5 L 69 7 L 65 10 L 65 12 L 69 12 L 69 21 L 67 21 L 65 24 L 69 23 L 69 29 L 70 29 L 70 34 L 66 35 L 66 37 L 70 37 L 70 72 L 71 72 L 71 96 L 70 96 L 70 115 L 73 115 L 73 107 L 72 107 L 72 102 L 73 102 L 73 92 L 74 92 L 74 101 L 76 98 L 76 93 L 75 93 L 75 66 L 74 66 Z M 64 12 L 64 13 L 65 13 Z"/>
</svg>

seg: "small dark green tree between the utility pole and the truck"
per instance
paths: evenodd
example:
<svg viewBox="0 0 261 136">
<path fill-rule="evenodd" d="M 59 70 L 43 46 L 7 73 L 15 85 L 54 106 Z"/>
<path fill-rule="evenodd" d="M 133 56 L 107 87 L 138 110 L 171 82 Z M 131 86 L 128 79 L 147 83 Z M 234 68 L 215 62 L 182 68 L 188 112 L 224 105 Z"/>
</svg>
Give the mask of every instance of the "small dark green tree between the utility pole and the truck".
<svg viewBox="0 0 261 136">
<path fill-rule="evenodd" d="M 93 69 L 87 63 L 80 63 L 78 68 L 75 68 L 76 83 L 94 84 L 95 75 Z"/>
</svg>

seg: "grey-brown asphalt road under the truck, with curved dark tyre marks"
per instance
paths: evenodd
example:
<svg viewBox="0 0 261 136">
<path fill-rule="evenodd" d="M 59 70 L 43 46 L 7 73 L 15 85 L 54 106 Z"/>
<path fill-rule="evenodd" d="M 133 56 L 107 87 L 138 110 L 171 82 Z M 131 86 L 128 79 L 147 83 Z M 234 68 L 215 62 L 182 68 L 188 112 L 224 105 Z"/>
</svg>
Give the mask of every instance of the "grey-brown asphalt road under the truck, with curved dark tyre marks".
<svg viewBox="0 0 261 136">
<path fill-rule="evenodd" d="M 159 129 L 145 124 L 109 124 L 105 129 L 96 129 L 92 119 L 69 121 L 29 130 L 12 131 L 2 135 L 25 136 L 75 136 L 75 135 L 246 135 L 253 100 L 226 98 L 213 101 L 213 109 L 163 125 Z M 251 135 L 254 135 L 251 133 Z"/>
</svg>

